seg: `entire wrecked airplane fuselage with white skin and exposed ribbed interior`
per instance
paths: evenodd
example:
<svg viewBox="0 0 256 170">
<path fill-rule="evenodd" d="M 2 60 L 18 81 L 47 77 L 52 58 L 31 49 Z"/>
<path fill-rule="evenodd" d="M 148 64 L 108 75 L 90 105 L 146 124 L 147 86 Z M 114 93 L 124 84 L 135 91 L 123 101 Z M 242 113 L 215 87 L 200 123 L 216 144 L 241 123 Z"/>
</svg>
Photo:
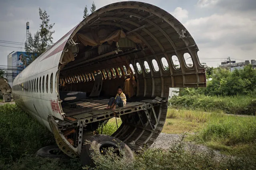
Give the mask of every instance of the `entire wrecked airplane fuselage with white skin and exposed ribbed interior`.
<svg viewBox="0 0 256 170">
<path fill-rule="evenodd" d="M 206 87 L 197 52 L 189 32 L 165 10 L 143 2 L 113 3 L 28 65 L 14 79 L 12 93 L 68 156 L 88 162 L 85 139 L 100 150 L 117 147 L 114 138 L 132 157 L 130 150 L 151 146 L 161 133 L 169 87 Z M 184 58 L 186 53 L 191 58 Z M 127 104 L 104 109 L 120 85 Z M 93 135 L 113 117 L 122 124 L 112 136 Z"/>
</svg>

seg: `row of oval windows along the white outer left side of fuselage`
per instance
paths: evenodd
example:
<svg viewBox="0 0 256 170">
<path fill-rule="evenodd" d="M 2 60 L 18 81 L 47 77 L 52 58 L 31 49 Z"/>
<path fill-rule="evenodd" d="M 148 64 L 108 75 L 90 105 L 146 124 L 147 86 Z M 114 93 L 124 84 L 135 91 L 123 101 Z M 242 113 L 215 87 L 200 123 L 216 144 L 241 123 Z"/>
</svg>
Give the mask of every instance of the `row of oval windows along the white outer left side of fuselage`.
<svg viewBox="0 0 256 170">
<path fill-rule="evenodd" d="M 18 85 L 14 85 L 12 87 L 12 89 L 14 91 L 23 91 L 23 92 L 36 92 L 38 93 L 38 89 L 39 89 L 39 93 L 41 93 L 41 87 L 42 87 L 42 93 L 44 93 L 44 85 L 45 85 L 45 91 L 46 93 L 48 93 L 48 74 L 46 75 L 46 80 L 44 83 L 44 76 L 42 77 L 42 83 L 41 83 L 41 77 L 39 78 L 39 87 L 38 87 L 38 78 L 36 79 L 32 79 L 29 81 L 25 81 L 23 83 L 20 83 Z M 52 89 L 53 89 L 53 73 L 51 73 L 50 75 L 50 93 L 52 93 Z"/>
</svg>

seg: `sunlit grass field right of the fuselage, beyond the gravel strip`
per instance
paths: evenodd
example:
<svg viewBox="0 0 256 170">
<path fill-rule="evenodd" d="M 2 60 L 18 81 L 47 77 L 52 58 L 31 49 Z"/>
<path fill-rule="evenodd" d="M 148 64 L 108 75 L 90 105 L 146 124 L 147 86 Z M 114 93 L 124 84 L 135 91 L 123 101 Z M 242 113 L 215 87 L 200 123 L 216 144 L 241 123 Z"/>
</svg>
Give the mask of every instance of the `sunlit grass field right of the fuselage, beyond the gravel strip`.
<svg viewBox="0 0 256 170">
<path fill-rule="evenodd" d="M 180 134 L 193 132 L 185 140 L 205 144 L 223 154 L 243 157 L 256 167 L 256 117 L 168 109 L 162 132 Z M 247 169 L 247 168 L 246 168 Z"/>
</svg>

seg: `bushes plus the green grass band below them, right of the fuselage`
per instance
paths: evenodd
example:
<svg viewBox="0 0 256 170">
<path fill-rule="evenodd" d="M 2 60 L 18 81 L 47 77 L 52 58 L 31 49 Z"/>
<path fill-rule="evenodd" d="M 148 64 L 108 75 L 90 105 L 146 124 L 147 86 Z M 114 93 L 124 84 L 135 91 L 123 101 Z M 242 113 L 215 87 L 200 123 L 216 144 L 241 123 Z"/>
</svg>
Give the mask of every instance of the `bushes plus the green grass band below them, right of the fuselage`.
<svg viewBox="0 0 256 170">
<path fill-rule="evenodd" d="M 233 72 L 208 68 L 206 75 L 206 88 L 181 88 L 179 96 L 169 100 L 172 107 L 255 115 L 256 69 L 252 65 Z"/>
</svg>

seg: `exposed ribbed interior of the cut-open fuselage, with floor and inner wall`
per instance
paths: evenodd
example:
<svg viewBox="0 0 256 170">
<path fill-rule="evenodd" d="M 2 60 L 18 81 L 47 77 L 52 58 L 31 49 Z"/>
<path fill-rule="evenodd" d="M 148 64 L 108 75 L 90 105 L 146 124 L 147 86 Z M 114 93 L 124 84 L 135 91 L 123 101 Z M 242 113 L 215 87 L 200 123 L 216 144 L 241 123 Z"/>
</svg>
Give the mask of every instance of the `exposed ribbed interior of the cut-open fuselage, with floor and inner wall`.
<svg viewBox="0 0 256 170">
<path fill-rule="evenodd" d="M 62 54 L 65 120 L 83 121 L 90 131 L 118 115 L 123 123 L 113 136 L 134 150 L 150 146 L 165 123 L 169 87 L 206 86 L 197 52 L 185 27 L 161 8 L 142 2 L 100 8 L 77 27 Z M 127 105 L 104 110 L 118 86 Z"/>
</svg>

